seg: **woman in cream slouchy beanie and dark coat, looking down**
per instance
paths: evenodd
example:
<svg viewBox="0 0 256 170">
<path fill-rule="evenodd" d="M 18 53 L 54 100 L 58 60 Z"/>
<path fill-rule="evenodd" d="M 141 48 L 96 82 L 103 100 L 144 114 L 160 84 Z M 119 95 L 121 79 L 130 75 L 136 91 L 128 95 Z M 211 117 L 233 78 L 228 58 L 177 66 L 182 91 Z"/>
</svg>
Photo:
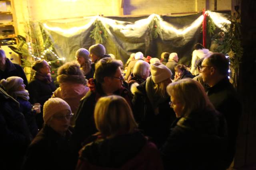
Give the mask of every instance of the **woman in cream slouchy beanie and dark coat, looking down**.
<svg viewBox="0 0 256 170">
<path fill-rule="evenodd" d="M 134 117 L 145 135 L 161 146 L 168 137 L 175 113 L 169 106 L 166 86 L 172 82 L 172 72 L 164 64 L 150 65 L 151 76 L 137 86 L 132 103 Z"/>
</svg>

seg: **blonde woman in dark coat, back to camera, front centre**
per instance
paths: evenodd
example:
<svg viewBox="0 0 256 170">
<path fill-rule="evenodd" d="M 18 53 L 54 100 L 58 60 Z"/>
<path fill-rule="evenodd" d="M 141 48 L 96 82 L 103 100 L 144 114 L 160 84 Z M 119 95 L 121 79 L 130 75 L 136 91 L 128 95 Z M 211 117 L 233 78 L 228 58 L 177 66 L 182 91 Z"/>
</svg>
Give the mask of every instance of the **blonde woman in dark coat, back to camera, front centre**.
<svg viewBox="0 0 256 170">
<path fill-rule="evenodd" d="M 132 109 L 124 98 L 100 98 L 94 121 L 98 132 L 80 150 L 76 170 L 163 169 L 158 149 L 138 131 Z"/>
</svg>

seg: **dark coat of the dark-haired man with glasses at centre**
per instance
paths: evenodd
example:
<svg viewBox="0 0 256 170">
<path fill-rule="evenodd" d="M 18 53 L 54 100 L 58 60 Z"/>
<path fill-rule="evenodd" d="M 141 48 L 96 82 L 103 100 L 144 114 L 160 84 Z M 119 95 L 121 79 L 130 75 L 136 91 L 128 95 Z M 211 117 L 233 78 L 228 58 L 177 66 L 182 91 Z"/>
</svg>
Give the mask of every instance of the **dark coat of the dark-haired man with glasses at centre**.
<svg viewBox="0 0 256 170">
<path fill-rule="evenodd" d="M 94 108 L 98 99 L 106 96 L 101 89 L 101 85 L 96 83 L 95 79 L 90 79 L 88 82 L 90 91 L 81 99 L 78 111 L 75 117 L 74 126 L 74 141 L 76 141 L 77 149 L 80 150 L 82 142 L 97 132 L 94 122 Z M 131 106 L 131 95 L 124 87 L 114 92 L 115 95 L 122 96 Z"/>
</svg>

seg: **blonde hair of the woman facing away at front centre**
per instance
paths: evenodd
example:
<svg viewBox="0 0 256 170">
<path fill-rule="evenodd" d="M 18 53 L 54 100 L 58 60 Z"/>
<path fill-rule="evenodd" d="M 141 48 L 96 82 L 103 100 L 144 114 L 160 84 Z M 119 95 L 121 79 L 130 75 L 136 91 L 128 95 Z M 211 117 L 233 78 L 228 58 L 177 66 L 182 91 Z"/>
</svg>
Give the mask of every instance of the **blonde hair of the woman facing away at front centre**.
<svg viewBox="0 0 256 170">
<path fill-rule="evenodd" d="M 138 125 L 132 115 L 132 109 L 121 96 L 102 97 L 94 109 L 96 128 L 104 137 L 133 133 Z"/>
</svg>

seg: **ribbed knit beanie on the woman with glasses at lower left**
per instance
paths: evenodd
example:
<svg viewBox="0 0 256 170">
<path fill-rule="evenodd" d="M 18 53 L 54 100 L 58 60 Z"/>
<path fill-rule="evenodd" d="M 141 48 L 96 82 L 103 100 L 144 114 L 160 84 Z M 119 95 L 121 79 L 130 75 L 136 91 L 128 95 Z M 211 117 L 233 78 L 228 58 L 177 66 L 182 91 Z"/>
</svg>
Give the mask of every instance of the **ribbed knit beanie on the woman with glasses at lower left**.
<svg viewBox="0 0 256 170">
<path fill-rule="evenodd" d="M 71 113 L 70 106 L 61 98 L 50 98 L 44 103 L 44 122 L 47 121 L 57 112 L 68 109 Z"/>
</svg>

